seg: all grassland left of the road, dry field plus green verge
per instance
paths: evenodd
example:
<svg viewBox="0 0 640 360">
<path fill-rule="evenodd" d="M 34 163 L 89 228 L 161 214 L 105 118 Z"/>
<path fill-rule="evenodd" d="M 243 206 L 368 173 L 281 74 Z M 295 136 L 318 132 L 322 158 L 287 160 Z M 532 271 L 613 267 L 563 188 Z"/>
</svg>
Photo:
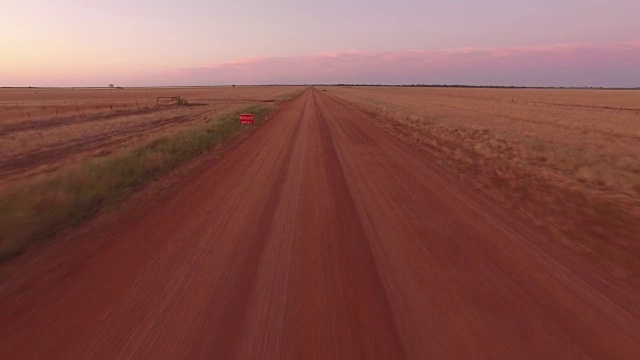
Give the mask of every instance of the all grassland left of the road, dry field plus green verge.
<svg viewBox="0 0 640 360">
<path fill-rule="evenodd" d="M 18 119 L 0 105 L 0 259 L 78 224 L 193 156 L 249 128 L 237 115 L 262 121 L 272 105 L 301 88 L 227 87 L 138 90 L 0 90 L 5 103 L 93 104 L 181 96 L 179 104 L 128 107 L 77 115 Z M 25 93 L 28 91 L 29 93 Z M 36 94 L 37 93 L 37 94 Z M 226 96 L 226 98 L 225 98 Z M 9 99 L 9 100 L 7 100 Z M 1 104 L 1 103 L 0 103 Z M 19 105 L 18 105 L 19 106 Z M 42 105 L 42 114 L 50 113 Z M 50 107 L 57 105 L 49 104 Z M 79 106 L 79 105 L 78 105 Z M 96 105 L 99 107 L 99 105 Z"/>
</svg>

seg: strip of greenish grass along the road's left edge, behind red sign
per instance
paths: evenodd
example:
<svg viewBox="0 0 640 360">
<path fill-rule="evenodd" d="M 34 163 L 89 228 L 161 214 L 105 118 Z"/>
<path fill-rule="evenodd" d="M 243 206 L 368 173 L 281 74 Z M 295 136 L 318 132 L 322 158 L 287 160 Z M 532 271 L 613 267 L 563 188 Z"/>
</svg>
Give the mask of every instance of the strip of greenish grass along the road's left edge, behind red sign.
<svg viewBox="0 0 640 360">
<path fill-rule="evenodd" d="M 238 123 L 238 114 L 253 113 L 259 124 L 267 112 L 265 105 L 252 105 L 125 152 L 86 160 L 45 179 L 4 189 L 0 261 L 82 223 L 223 140 L 249 131 Z"/>
</svg>

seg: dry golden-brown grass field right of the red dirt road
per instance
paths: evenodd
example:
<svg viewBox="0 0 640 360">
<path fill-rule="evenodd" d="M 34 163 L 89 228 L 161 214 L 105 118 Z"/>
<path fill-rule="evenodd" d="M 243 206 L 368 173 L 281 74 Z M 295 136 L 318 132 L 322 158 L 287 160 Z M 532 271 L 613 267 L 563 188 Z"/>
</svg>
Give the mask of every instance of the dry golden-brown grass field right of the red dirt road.
<svg viewBox="0 0 640 360">
<path fill-rule="evenodd" d="M 621 278 L 640 272 L 640 91 L 326 87 Z"/>
</svg>

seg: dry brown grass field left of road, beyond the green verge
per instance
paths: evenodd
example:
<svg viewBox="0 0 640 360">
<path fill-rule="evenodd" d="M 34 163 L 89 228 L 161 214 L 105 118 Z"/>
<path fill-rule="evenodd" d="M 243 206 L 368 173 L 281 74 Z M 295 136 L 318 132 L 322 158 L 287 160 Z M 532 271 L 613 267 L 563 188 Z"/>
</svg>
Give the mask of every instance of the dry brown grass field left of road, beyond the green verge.
<svg viewBox="0 0 640 360">
<path fill-rule="evenodd" d="M 0 184 L 149 141 L 293 87 L 0 89 Z M 162 100 L 180 96 L 188 104 Z"/>
</svg>

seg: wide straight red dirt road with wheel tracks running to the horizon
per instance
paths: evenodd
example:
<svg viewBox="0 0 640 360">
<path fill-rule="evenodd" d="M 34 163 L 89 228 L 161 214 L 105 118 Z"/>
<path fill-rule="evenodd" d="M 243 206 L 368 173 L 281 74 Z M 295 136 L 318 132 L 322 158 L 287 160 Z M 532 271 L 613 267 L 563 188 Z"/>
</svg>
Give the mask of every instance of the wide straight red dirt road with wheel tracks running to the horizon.
<svg viewBox="0 0 640 360">
<path fill-rule="evenodd" d="M 190 180 L 0 268 L 0 358 L 640 357 L 638 289 L 315 89 Z"/>
</svg>

